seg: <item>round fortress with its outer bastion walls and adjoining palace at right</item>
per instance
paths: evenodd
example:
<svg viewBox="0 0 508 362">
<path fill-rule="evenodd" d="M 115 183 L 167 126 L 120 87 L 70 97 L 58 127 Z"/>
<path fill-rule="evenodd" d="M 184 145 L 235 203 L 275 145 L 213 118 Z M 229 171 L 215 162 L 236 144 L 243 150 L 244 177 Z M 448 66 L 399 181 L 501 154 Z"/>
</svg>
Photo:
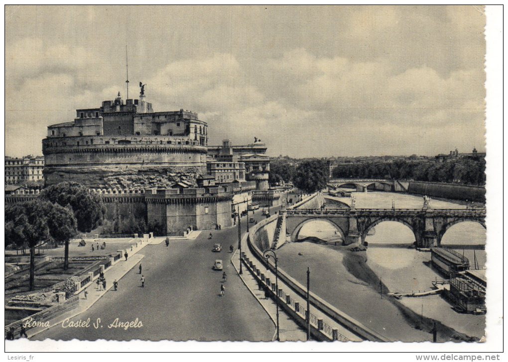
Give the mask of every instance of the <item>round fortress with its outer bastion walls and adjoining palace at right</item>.
<svg viewBox="0 0 508 362">
<path fill-rule="evenodd" d="M 139 99 L 77 109 L 74 120 L 48 126 L 42 141 L 46 185 L 76 181 L 99 193 L 108 219 L 156 220 L 166 233 L 232 224 L 249 202 L 276 205 L 270 158 L 261 140 L 208 146 L 208 124 L 193 112 L 154 112 Z M 175 215 L 178 215 L 175 217 Z"/>
</svg>

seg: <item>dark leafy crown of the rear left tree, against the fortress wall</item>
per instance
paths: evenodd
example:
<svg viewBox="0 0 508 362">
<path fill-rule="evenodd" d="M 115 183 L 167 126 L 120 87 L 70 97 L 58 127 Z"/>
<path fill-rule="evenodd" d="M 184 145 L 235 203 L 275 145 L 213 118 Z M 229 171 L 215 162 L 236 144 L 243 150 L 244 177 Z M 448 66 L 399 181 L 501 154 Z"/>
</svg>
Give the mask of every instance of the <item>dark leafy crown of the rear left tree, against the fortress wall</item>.
<svg viewBox="0 0 508 362">
<path fill-rule="evenodd" d="M 77 182 L 61 182 L 46 187 L 39 196 L 63 207 L 72 208 L 77 220 L 77 229 L 89 233 L 102 224 L 106 208 L 98 194 L 91 193 Z"/>
</svg>

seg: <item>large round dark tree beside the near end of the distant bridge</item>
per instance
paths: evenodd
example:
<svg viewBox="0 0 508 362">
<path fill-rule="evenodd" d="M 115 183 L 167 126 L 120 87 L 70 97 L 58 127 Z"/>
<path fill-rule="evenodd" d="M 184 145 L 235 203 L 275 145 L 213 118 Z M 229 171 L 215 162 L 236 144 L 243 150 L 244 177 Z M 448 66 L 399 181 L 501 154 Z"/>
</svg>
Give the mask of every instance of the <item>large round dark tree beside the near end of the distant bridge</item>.
<svg viewBox="0 0 508 362">
<path fill-rule="evenodd" d="M 328 164 L 323 160 L 303 161 L 296 168 L 293 182 L 305 192 L 315 192 L 326 187 L 328 181 Z"/>
</svg>

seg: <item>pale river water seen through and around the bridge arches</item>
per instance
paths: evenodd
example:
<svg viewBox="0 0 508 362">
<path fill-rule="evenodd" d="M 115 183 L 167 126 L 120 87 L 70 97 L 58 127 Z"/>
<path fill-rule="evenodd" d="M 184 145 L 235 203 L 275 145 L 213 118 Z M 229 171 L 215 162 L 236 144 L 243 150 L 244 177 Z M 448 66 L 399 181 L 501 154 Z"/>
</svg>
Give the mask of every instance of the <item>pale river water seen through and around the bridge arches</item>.
<svg viewBox="0 0 508 362">
<path fill-rule="evenodd" d="M 421 196 L 392 192 L 353 192 L 357 208 L 421 208 Z M 350 203 L 350 198 L 338 198 Z M 460 202 L 431 200 L 432 208 L 465 208 Z M 314 221 L 305 224 L 299 239 L 317 237 L 332 243 L 340 242 L 336 229 L 325 221 Z M 367 265 L 392 292 L 411 292 L 430 290 L 432 281 L 443 279 L 430 265 L 430 253 L 419 252 L 409 248 L 415 241 L 410 229 L 396 221 L 385 221 L 375 226 L 373 235 L 366 238 L 368 242 Z M 443 236 L 441 245 L 455 249 L 470 260 L 471 269 L 484 269 L 486 265 L 486 230 L 479 223 L 466 221 L 452 226 Z M 307 244 L 307 243 L 305 243 Z M 339 244 L 339 243 L 337 243 Z M 288 249 L 292 246 L 288 245 Z M 307 249 L 307 248 L 306 248 Z M 283 248 L 281 249 L 281 251 Z M 310 249 L 311 250 L 311 249 Z M 309 252 L 309 250 L 306 250 Z M 289 250 L 287 250 L 289 252 Z M 322 255 L 322 252 L 320 253 Z M 475 261 L 476 260 L 476 261 Z M 451 309 L 450 304 L 441 297 L 403 298 L 401 303 L 418 315 L 439 320 L 467 336 L 482 338 L 485 331 L 485 315 L 459 314 Z M 415 336 L 416 337 L 416 336 Z"/>
</svg>

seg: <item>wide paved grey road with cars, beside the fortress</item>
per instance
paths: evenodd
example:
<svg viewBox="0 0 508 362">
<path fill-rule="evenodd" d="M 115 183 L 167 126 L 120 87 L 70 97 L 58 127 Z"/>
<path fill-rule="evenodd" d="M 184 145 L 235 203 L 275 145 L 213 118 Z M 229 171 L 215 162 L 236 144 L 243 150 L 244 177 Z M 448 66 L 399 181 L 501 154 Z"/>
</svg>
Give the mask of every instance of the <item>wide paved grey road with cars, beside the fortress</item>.
<svg viewBox="0 0 508 362">
<path fill-rule="evenodd" d="M 260 211 L 256 214 L 261 216 Z M 242 229 L 245 221 L 243 217 Z M 148 245 L 141 251 L 145 255 L 144 288 L 136 266 L 119 280 L 117 291 L 108 291 L 88 311 L 72 319 L 90 318 L 90 326 L 63 328 L 58 324 L 34 339 L 272 340 L 273 322 L 230 263 L 229 246 L 236 249 L 238 229 L 212 231 L 211 240 L 208 234 L 202 232 L 192 241 L 172 241 L 169 248 L 164 243 Z M 213 253 L 217 242 L 223 244 L 223 251 Z M 215 259 L 223 259 L 228 274 L 224 297 L 219 297 L 222 273 L 211 268 Z M 97 318 L 101 318 L 102 327 L 94 328 Z M 109 328 L 115 318 L 122 322 L 138 318 L 143 325 L 126 330 Z"/>
</svg>

